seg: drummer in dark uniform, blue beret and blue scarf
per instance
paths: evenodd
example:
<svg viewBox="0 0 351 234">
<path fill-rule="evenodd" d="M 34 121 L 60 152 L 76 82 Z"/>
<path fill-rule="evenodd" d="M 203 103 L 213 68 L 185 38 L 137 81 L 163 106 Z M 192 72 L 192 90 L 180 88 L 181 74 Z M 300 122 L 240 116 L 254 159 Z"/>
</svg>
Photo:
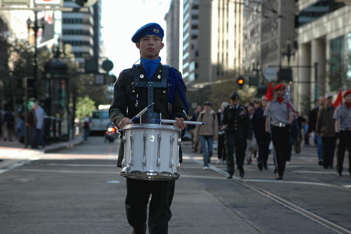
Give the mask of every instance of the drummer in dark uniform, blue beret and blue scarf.
<svg viewBox="0 0 351 234">
<path fill-rule="evenodd" d="M 185 133 L 188 105 L 185 99 L 185 84 L 179 71 L 162 65 L 159 57 L 164 47 L 164 31 L 156 23 L 146 24 L 132 37 L 133 43 L 140 50 L 140 65 L 123 70 L 114 85 L 110 116 L 113 124 L 122 129 L 133 124 L 131 119 L 151 103 L 152 108 L 141 116 L 142 123 L 154 123 L 153 119 L 175 119 Z M 139 123 L 140 119 L 136 120 Z M 121 143 L 117 166 L 121 167 L 124 157 L 124 145 Z M 179 148 L 179 161 L 182 160 Z M 128 223 L 133 233 L 146 232 L 147 203 L 152 194 L 149 207 L 149 233 L 167 233 L 170 221 L 171 203 L 174 195 L 174 180 L 147 181 L 127 178 L 127 197 L 125 200 Z"/>
</svg>

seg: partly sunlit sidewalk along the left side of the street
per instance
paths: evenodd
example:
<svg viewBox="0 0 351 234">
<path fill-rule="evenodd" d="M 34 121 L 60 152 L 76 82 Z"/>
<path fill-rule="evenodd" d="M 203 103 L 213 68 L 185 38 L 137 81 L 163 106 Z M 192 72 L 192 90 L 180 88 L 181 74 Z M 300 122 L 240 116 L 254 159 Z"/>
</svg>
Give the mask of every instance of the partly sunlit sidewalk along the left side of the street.
<svg viewBox="0 0 351 234">
<path fill-rule="evenodd" d="M 31 149 L 31 146 L 28 145 L 28 148 L 24 147 L 24 144 L 14 140 L 12 142 L 0 141 L 0 168 L 4 168 L 10 164 L 16 163 L 21 160 L 27 160 L 28 158 L 35 158 L 38 155 L 55 152 L 61 149 L 72 148 L 75 145 L 81 144 L 83 142 L 83 136 L 74 136 L 74 139 L 71 139 L 67 142 L 58 142 L 51 145 L 47 145 L 44 149 Z"/>
</svg>

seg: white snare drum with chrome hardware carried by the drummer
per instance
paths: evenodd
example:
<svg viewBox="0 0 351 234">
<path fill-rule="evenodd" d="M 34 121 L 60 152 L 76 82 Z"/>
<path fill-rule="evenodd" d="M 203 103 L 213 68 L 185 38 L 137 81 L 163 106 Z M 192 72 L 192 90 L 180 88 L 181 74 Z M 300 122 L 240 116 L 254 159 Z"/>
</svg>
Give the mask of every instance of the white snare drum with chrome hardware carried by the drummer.
<svg viewBox="0 0 351 234">
<path fill-rule="evenodd" d="M 128 124 L 122 130 L 121 176 L 139 180 L 179 178 L 180 128 L 163 124 Z"/>
</svg>

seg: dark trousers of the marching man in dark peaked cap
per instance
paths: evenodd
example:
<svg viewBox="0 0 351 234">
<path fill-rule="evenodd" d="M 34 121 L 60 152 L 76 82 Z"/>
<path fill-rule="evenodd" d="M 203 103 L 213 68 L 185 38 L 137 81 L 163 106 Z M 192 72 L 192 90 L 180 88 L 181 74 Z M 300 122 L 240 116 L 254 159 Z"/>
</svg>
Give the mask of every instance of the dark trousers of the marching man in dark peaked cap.
<svg viewBox="0 0 351 234">
<path fill-rule="evenodd" d="M 235 147 L 235 158 L 236 163 L 238 165 L 239 171 L 244 171 L 244 159 L 245 159 L 245 151 L 246 151 L 247 144 L 238 144 L 237 142 L 235 145 L 225 145 L 225 150 L 227 153 L 227 171 L 229 175 L 234 174 L 234 147 Z"/>
</svg>

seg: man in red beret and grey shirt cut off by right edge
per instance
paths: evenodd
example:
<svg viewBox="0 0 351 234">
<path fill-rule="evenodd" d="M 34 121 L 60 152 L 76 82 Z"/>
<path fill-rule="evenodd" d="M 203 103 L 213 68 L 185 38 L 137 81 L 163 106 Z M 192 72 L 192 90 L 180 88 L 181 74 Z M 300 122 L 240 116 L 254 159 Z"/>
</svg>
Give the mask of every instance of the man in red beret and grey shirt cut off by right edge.
<svg viewBox="0 0 351 234">
<path fill-rule="evenodd" d="M 335 121 L 336 137 L 339 138 L 337 176 L 341 176 L 343 172 L 346 148 L 349 151 L 349 173 L 351 176 L 351 90 L 344 93 L 344 98 L 345 103 L 335 109 L 333 116 L 333 119 L 338 120 L 340 115 L 340 122 Z"/>
</svg>

